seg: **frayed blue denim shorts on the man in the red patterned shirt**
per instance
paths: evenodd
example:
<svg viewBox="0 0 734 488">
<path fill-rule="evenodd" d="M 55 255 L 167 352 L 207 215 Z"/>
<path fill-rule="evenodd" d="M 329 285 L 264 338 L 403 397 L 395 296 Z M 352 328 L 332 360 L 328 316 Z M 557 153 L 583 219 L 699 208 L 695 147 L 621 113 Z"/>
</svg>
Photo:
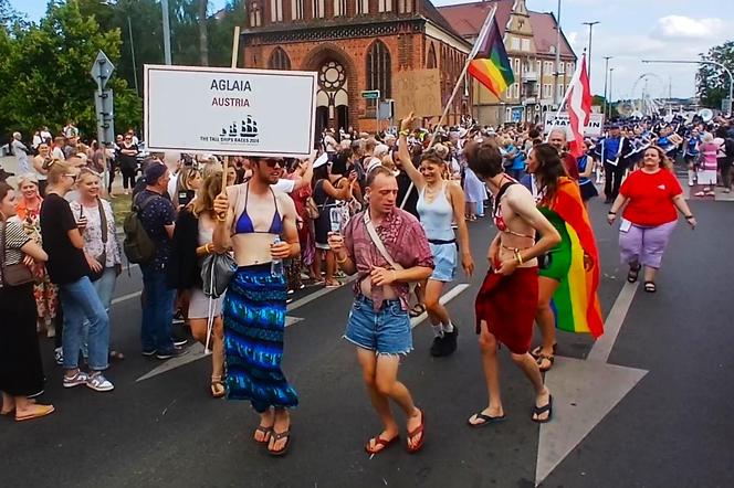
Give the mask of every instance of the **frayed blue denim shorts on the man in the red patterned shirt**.
<svg viewBox="0 0 734 488">
<path fill-rule="evenodd" d="M 400 300 L 385 300 L 375 311 L 373 300 L 358 296 L 344 338 L 355 346 L 377 354 L 407 354 L 412 350 L 410 317 Z"/>
</svg>

